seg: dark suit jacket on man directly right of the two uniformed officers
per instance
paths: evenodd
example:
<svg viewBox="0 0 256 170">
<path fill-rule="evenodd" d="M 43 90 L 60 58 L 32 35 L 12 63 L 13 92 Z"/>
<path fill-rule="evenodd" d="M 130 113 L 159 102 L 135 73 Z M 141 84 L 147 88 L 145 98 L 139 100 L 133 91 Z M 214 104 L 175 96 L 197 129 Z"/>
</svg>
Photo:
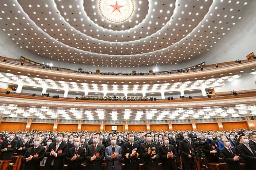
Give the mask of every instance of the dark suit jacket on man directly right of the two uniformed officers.
<svg viewBox="0 0 256 170">
<path fill-rule="evenodd" d="M 177 165 L 175 159 L 177 157 L 177 152 L 175 146 L 172 144 L 168 144 L 169 150 L 166 148 L 165 144 L 159 146 L 159 156 L 162 162 L 163 170 L 177 170 Z M 167 158 L 167 153 L 174 153 L 173 158 Z"/>
</svg>

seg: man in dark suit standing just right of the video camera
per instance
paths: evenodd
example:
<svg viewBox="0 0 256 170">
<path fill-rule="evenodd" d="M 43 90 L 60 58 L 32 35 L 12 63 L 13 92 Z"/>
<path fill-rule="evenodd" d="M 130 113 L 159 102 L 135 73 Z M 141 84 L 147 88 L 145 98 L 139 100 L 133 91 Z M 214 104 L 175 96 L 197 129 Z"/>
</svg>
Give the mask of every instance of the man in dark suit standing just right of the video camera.
<svg viewBox="0 0 256 170">
<path fill-rule="evenodd" d="M 219 162 L 218 144 L 214 140 L 210 140 L 207 133 L 203 133 L 204 147 L 203 153 L 209 163 Z"/>
</svg>

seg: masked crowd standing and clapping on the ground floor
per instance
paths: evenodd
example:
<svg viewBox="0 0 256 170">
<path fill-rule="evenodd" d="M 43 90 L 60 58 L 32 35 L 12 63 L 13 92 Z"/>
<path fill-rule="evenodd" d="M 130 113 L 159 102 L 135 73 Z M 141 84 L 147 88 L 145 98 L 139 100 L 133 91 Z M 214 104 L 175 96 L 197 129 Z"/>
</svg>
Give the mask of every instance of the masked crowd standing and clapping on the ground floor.
<svg viewBox="0 0 256 170">
<path fill-rule="evenodd" d="M 151 131 L 151 132 L 50 132 L 0 133 L 0 160 L 22 155 L 22 170 L 194 170 L 196 159 L 226 162 L 229 170 L 256 167 L 256 131 Z M 208 165 L 205 165 L 208 166 Z"/>
</svg>

